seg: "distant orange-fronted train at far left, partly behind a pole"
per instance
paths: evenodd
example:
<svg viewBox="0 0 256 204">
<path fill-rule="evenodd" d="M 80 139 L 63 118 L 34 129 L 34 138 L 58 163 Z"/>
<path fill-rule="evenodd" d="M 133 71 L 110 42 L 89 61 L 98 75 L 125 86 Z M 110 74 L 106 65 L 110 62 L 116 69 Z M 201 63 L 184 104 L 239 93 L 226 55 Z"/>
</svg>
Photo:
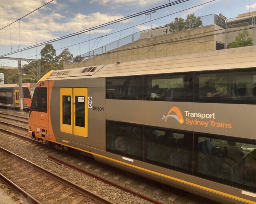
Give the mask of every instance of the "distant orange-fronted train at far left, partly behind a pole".
<svg viewBox="0 0 256 204">
<path fill-rule="evenodd" d="M 22 84 L 24 108 L 30 108 L 35 87 L 35 83 Z M 20 107 L 19 84 L 0 85 L 0 106 L 16 108 Z"/>
</svg>

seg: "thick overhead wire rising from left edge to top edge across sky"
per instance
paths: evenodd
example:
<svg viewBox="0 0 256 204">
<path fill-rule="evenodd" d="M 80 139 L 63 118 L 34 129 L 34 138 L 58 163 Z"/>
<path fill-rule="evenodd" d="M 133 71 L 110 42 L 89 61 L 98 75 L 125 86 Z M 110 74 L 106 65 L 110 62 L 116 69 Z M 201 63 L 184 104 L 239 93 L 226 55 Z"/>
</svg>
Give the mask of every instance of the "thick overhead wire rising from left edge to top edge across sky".
<svg viewBox="0 0 256 204">
<path fill-rule="evenodd" d="M 55 38 L 53 40 L 48 40 L 48 41 L 45 41 L 45 42 L 42 42 L 40 44 L 37 44 L 37 46 L 42 46 L 42 45 L 45 45 L 45 44 L 48 44 L 48 43 L 52 43 L 52 42 L 56 42 L 56 41 L 59 41 L 59 40 L 63 40 L 63 39 L 66 39 L 66 38 L 70 38 L 70 37 L 73 37 L 73 36 L 76 36 L 78 34 L 82 34 L 82 33 L 85 33 L 85 32 L 90 32 L 92 30 L 96 30 L 98 28 L 102 28 L 104 26 L 108 26 L 108 25 L 111 25 L 111 24 L 114 24 L 114 23 L 117 23 L 117 22 L 121 22 L 121 21 L 124 21 L 124 20 L 128 20 L 130 18 L 134 18 L 136 16 L 140 16 L 140 15 L 143 15 L 143 14 L 146 14 L 148 12 L 152 12 L 152 11 L 155 11 L 155 10 L 159 10 L 159 9 L 162 9 L 162 8 L 166 8 L 168 6 L 174 6 L 176 4 L 180 4 L 180 3 L 183 3 L 183 2 L 187 2 L 187 1 L 190 1 L 190 0 L 176 0 L 170 4 L 163 4 L 161 6 L 157 6 L 157 7 L 154 7 L 154 8 L 151 8 L 151 9 L 148 9 L 148 10 L 144 10 L 142 12 L 138 12 L 136 14 L 132 14 L 130 16 L 126 16 L 126 17 L 123 17 L 123 18 L 119 18 L 119 19 L 116 19 L 116 20 L 113 20 L 113 21 L 110 21 L 110 22 L 107 22 L 107 23 L 104 23 L 104 24 L 100 24 L 98 26 L 94 26 L 92 28 L 88 28 L 88 29 L 85 29 L 85 30 L 82 30 L 82 31 L 79 31 L 79 32 L 75 32 L 75 33 L 72 33 L 72 34 L 68 34 L 66 36 L 62 36 L 62 37 L 58 37 L 58 38 Z M 216 1 L 216 0 L 212 0 L 211 2 L 213 1 Z M 26 48 L 23 48 L 22 51 L 25 51 L 25 50 L 28 50 L 28 49 L 32 49 L 34 48 L 36 45 L 32 45 L 32 46 L 28 46 Z M 11 52 L 11 53 L 6 53 L 6 54 L 3 54 L 1 55 L 1 57 L 3 56 L 7 56 L 7 55 L 10 55 L 10 54 L 14 54 L 16 52 L 20 52 L 21 50 L 16 50 L 14 52 Z"/>
</svg>

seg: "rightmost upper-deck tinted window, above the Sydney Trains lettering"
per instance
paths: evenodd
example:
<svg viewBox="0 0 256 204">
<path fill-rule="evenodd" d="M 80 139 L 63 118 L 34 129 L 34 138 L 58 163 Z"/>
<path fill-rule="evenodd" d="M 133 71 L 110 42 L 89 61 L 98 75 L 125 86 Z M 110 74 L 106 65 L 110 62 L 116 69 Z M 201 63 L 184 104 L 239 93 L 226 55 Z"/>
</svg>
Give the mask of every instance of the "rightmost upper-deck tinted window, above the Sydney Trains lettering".
<svg viewBox="0 0 256 204">
<path fill-rule="evenodd" d="M 196 74 L 197 102 L 256 104 L 256 71 L 241 69 Z"/>
</svg>

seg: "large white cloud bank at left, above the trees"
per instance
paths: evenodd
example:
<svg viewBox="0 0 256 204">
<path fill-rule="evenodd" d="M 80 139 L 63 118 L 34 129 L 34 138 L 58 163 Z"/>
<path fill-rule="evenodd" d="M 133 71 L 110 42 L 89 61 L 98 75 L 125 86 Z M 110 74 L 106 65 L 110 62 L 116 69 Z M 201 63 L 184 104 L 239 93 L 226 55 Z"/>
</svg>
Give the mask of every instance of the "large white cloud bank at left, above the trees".
<svg viewBox="0 0 256 204">
<path fill-rule="evenodd" d="M 58 38 L 66 34 L 86 30 L 88 28 L 110 22 L 122 18 L 122 15 L 102 14 L 100 12 L 89 15 L 75 14 L 68 18 L 61 14 L 52 12 L 48 15 L 44 13 L 35 12 L 30 14 L 26 20 L 20 21 L 20 44 L 34 45 L 47 40 Z M 10 23 L 8 19 L 3 19 L 0 22 L 0 27 Z M 124 22 L 123 22 L 124 23 Z M 19 43 L 19 23 L 16 22 L 10 26 L 12 45 L 17 46 Z M 90 33 L 108 34 L 112 29 L 97 29 Z M 0 31 L 0 44 L 10 45 L 10 31 L 9 27 Z"/>
</svg>

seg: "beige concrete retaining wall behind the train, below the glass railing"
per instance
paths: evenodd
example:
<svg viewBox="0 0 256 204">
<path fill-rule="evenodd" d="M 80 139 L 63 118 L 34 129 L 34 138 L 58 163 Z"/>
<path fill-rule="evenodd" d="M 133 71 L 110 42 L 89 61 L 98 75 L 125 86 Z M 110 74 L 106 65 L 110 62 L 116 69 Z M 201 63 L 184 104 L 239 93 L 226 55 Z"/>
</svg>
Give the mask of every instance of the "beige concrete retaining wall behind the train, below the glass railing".
<svg viewBox="0 0 256 204">
<path fill-rule="evenodd" d="M 171 34 L 164 34 L 152 38 L 137 40 L 134 43 L 130 43 L 115 50 L 111 50 L 110 52 L 100 54 L 86 61 L 74 64 L 64 64 L 64 69 L 94 66 L 100 64 L 112 64 L 118 61 L 128 62 L 134 60 L 215 50 L 215 36 L 213 35 L 204 37 L 205 35 L 214 34 L 215 29 L 215 25 L 210 25 L 200 28 L 194 28 L 191 30 L 184 30 L 180 32 L 174 32 Z M 202 37 L 198 38 L 199 36 Z M 155 43 L 161 44 L 144 48 L 136 48 L 138 46 L 145 46 L 148 44 Z M 113 51 L 118 52 L 111 53 Z"/>
</svg>

